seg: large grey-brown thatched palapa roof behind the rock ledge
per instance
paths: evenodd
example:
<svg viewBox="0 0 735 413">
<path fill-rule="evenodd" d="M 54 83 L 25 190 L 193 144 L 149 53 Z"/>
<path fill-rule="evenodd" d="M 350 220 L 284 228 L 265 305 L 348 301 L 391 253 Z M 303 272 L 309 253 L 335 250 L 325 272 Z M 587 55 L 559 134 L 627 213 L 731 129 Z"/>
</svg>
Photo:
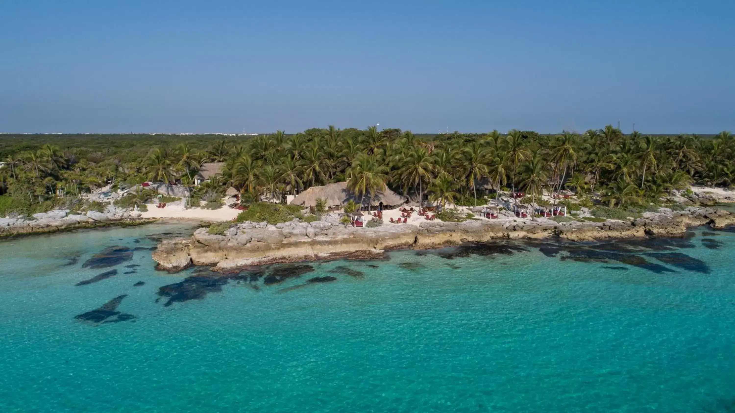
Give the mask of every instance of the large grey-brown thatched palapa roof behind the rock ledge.
<svg viewBox="0 0 735 413">
<path fill-rule="evenodd" d="M 291 205 L 316 206 L 318 199 L 326 199 L 328 207 L 345 206 L 350 200 L 360 203 L 360 197 L 356 196 L 352 191 L 347 189 L 347 182 L 336 182 L 334 184 L 326 184 L 323 187 L 310 187 L 308 190 L 296 195 L 291 201 Z M 383 191 L 373 195 L 372 199 L 365 196 L 363 206 L 377 206 L 381 202 L 383 205 L 395 206 L 404 204 L 406 198 L 390 190 L 386 187 Z"/>
</svg>

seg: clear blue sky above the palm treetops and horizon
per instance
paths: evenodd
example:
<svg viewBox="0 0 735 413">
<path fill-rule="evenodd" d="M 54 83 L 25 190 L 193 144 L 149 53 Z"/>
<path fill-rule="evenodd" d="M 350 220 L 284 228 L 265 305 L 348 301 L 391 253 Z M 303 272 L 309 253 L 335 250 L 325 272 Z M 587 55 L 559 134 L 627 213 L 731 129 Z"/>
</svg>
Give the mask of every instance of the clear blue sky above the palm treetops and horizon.
<svg viewBox="0 0 735 413">
<path fill-rule="evenodd" d="M 0 132 L 735 130 L 735 1 L 0 2 Z"/>
</svg>

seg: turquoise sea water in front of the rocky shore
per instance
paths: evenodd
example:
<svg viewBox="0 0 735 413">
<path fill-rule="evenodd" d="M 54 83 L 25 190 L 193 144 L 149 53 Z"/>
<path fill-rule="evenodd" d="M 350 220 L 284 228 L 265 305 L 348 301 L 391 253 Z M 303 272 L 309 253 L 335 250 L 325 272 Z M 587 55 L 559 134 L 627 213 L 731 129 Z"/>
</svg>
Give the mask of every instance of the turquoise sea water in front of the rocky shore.
<svg viewBox="0 0 735 413">
<path fill-rule="evenodd" d="M 148 250 L 189 230 L 1 242 L 0 412 L 735 411 L 734 232 L 396 251 L 202 291 Z M 121 295 L 119 322 L 75 318 Z"/>
</svg>

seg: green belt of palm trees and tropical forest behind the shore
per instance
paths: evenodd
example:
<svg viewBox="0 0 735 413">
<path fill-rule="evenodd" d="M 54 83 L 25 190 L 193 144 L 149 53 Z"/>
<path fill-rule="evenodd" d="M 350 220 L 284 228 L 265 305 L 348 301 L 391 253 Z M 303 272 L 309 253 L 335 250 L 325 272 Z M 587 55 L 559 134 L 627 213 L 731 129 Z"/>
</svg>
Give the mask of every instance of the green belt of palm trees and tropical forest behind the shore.
<svg viewBox="0 0 735 413">
<path fill-rule="evenodd" d="M 192 206 L 203 200 L 212 208 L 221 206 L 228 186 L 258 201 L 343 181 L 363 201 L 390 187 L 414 201 L 471 206 L 503 188 L 524 191 L 530 202 L 569 190 L 589 206 L 645 208 L 692 183 L 730 187 L 734 152 L 730 132 L 644 136 L 612 126 L 584 133 L 434 135 L 329 126 L 225 139 L 7 134 L 0 136 L 0 215 L 89 207 L 80 195 L 106 185 L 116 190 L 174 180 L 193 190 Z M 222 176 L 195 188 L 204 162 L 224 162 Z M 144 195 L 128 195 L 122 204 L 142 205 L 150 201 Z"/>
</svg>

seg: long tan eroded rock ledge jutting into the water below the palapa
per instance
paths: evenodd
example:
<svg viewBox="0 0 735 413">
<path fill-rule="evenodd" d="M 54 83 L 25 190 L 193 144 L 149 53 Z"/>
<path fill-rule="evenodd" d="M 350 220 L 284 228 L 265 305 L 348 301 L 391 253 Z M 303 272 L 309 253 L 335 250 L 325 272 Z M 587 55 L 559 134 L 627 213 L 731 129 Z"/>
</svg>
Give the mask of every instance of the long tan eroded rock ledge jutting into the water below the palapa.
<svg viewBox="0 0 735 413">
<path fill-rule="evenodd" d="M 385 251 L 431 249 L 495 239 L 543 239 L 560 237 L 572 241 L 645 236 L 681 237 L 691 226 L 714 228 L 735 224 L 735 215 L 723 210 L 690 207 L 682 212 L 664 212 L 636 220 L 604 223 L 555 223 L 551 220 L 468 220 L 464 223 L 430 222 L 420 226 L 384 224 L 375 229 L 340 224 L 336 215 L 322 220 L 270 226 L 241 223 L 212 235 L 197 229 L 191 238 L 163 241 L 153 253 L 157 268 L 176 272 L 190 265 L 207 265 L 222 273 L 254 265 L 301 262 L 316 259 L 375 259 Z"/>
</svg>

